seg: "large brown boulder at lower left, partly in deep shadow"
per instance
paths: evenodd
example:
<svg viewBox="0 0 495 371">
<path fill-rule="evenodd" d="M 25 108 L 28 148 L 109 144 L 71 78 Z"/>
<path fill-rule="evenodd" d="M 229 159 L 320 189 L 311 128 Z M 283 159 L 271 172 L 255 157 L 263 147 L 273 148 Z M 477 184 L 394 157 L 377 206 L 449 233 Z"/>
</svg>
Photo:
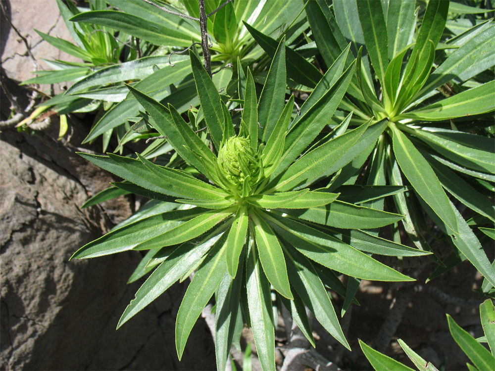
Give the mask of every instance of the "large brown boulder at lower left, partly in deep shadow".
<svg viewBox="0 0 495 371">
<path fill-rule="evenodd" d="M 111 225 L 101 208 L 78 207 L 90 183 L 78 177 L 100 170 L 45 134 L 4 132 L 0 156 L 1 369 L 214 369 L 201 321 L 183 363 L 177 359 L 175 316 L 185 284 L 116 331 L 142 283 L 126 284 L 140 253 L 68 261 Z"/>
</svg>

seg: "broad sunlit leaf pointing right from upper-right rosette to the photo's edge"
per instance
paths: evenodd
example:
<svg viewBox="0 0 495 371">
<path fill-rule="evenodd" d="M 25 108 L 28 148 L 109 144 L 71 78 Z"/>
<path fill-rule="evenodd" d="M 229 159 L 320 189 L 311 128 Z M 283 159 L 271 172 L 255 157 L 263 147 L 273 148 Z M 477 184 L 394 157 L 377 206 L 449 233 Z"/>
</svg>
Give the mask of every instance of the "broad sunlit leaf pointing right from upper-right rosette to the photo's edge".
<svg viewBox="0 0 495 371">
<path fill-rule="evenodd" d="M 404 112 L 396 120 L 412 118 L 416 120 L 441 121 L 455 117 L 465 117 L 495 110 L 495 81 L 455 94 L 432 103 L 424 108 Z"/>
</svg>

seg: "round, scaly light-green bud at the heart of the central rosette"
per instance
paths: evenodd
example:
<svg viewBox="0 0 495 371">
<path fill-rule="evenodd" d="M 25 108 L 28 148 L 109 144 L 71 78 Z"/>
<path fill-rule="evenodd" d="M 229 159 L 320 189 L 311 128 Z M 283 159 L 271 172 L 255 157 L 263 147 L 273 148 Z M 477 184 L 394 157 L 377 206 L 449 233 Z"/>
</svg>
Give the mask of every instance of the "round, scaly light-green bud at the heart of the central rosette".
<svg viewBox="0 0 495 371">
<path fill-rule="evenodd" d="M 218 167 L 230 185 L 241 191 L 244 180 L 249 177 L 251 187 L 256 185 L 261 174 L 261 162 L 250 140 L 231 137 L 218 151 Z"/>
</svg>

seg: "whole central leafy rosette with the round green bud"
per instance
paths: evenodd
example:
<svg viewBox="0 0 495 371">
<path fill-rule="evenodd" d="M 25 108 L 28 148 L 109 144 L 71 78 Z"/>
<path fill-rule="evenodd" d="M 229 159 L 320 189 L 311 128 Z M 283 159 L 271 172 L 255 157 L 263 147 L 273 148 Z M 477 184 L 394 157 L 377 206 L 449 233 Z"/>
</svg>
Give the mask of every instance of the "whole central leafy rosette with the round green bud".
<svg viewBox="0 0 495 371">
<path fill-rule="evenodd" d="M 411 280 L 373 259 L 371 253 L 426 254 L 360 230 L 394 223 L 401 215 L 356 207 L 337 200 L 339 194 L 319 189 L 321 178 L 335 173 L 361 148 L 374 143 L 387 125 L 385 120 L 368 121 L 348 132 L 338 130 L 311 147 L 354 73 L 354 63 L 344 70 L 349 49 L 308 97 L 300 116 L 293 115 L 293 95 L 284 105 L 285 50 L 282 41 L 259 99 L 247 69 L 242 115 L 234 114 L 234 120 L 198 56 L 190 52 L 209 143 L 172 105 L 165 107 L 129 87 L 148 111 L 153 127 L 195 171 L 159 166 L 140 155 L 134 159 L 82 154 L 122 177 L 125 182 L 117 183 L 118 187 L 172 201 L 175 209 L 134 217 L 132 223 L 83 246 L 73 258 L 149 250 L 133 280 L 153 272 L 118 326 L 174 282 L 196 271 L 177 315 L 177 352 L 181 357 L 193 325 L 214 295 L 219 370 L 225 369 L 231 344 L 243 324 L 252 327 L 263 369 L 275 369 L 277 321 L 272 293 L 311 344 L 314 339 L 305 307 L 348 348 L 327 288 L 347 296 L 347 306 L 355 291 L 347 294 L 336 273 L 372 280 Z M 347 127 L 347 123 L 348 118 L 342 124 Z"/>
</svg>

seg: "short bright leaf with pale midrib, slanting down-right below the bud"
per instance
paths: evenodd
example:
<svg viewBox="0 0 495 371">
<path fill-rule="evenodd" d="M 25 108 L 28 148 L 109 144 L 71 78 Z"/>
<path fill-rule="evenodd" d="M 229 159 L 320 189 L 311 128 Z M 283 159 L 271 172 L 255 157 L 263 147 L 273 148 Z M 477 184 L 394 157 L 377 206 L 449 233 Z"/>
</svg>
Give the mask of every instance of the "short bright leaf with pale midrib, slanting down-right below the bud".
<svg viewBox="0 0 495 371">
<path fill-rule="evenodd" d="M 249 217 L 253 222 L 259 260 L 266 278 L 280 294 L 288 299 L 293 299 L 284 253 L 278 238 L 263 220 L 263 214 L 250 213 Z"/>
</svg>

